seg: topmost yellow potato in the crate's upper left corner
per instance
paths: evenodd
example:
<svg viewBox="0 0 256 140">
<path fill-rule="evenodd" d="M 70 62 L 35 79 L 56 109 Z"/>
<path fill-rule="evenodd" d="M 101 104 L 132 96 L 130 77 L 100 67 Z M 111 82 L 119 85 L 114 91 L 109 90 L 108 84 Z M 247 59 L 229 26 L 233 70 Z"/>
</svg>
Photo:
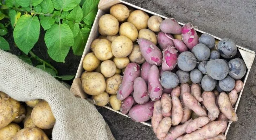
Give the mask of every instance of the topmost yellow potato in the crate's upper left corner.
<svg viewBox="0 0 256 140">
<path fill-rule="evenodd" d="M 126 20 L 130 15 L 129 9 L 122 4 L 113 5 L 109 12 L 110 15 L 113 15 L 119 22 Z"/>
</svg>

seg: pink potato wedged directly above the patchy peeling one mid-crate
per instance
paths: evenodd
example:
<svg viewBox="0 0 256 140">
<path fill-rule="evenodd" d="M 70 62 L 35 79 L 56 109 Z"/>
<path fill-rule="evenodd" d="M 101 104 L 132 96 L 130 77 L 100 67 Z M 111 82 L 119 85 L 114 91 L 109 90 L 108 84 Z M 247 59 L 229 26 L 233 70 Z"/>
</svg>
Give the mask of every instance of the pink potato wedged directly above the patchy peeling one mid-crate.
<svg viewBox="0 0 256 140">
<path fill-rule="evenodd" d="M 174 46 L 174 43 L 170 38 L 173 38 L 171 34 L 166 34 L 162 31 L 158 33 L 157 41 L 162 50 L 164 50 L 168 46 Z"/>
</svg>

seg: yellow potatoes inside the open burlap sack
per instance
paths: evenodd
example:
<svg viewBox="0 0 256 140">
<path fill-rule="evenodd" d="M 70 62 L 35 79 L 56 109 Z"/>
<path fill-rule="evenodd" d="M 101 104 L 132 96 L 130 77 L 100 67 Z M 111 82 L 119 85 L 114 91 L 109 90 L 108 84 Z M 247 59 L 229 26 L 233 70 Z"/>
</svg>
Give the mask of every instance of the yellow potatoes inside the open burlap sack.
<svg viewBox="0 0 256 140">
<path fill-rule="evenodd" d="M 0 91 L 0 140 L 49 140 L 55 121 L 44 100 L 22 103 Z"/>
</svg>

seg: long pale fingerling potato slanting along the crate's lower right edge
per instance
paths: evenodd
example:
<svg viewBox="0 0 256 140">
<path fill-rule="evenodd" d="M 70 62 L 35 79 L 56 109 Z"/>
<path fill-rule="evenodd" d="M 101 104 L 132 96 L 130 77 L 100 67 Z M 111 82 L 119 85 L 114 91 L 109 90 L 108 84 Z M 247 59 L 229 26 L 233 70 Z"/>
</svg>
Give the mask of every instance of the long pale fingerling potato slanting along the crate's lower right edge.
<svg viewBox="0 0 256 140">
<path fill-rule="evenodd" d="M 218 105 L 220 111 L 231 121 L 237 121 L 237 114 L 232 107 L 228 94 L 222 92 L 219 94 Z"/>
</svg>

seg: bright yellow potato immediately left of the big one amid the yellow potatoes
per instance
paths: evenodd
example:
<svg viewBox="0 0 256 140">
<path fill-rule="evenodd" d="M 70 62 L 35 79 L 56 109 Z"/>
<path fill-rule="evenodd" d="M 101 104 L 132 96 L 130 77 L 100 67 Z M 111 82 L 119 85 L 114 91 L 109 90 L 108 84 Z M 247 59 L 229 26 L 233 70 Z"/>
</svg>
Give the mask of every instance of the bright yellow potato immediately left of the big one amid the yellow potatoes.
<svg viewBox="0 0 256 140">
<path fill-rule="evenodd" d="M 110 59 L 113 56 L 111 52 L 111 42 L 107 39 L 98 41 L 94 48 L 94 55 L 101 61 Z"/>
</svg>

